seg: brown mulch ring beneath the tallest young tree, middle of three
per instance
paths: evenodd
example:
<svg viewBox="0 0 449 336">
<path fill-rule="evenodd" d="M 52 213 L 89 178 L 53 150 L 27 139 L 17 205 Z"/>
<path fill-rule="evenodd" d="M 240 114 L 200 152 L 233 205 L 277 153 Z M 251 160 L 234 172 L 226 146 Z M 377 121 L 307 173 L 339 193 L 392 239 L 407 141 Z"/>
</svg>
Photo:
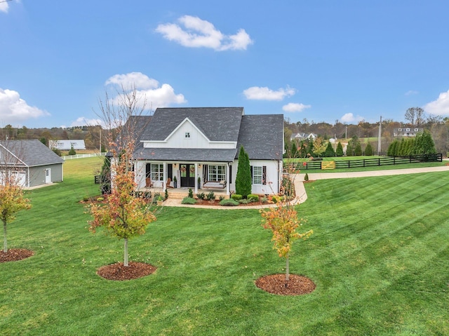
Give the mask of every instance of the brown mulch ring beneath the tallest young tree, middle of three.
<svg viewBox="0 0 449 336">
<path fill-rule="evenodd" d="M 107 280 L 123 281 L 148 276 L 157 269 L 152 264 L 145 264 L 145 262 L 128 262 L 128 265 L 124 266 L 123 262 L 116 262 L 102 266 L 98 269 L 97 274 Z"/>
</svg>

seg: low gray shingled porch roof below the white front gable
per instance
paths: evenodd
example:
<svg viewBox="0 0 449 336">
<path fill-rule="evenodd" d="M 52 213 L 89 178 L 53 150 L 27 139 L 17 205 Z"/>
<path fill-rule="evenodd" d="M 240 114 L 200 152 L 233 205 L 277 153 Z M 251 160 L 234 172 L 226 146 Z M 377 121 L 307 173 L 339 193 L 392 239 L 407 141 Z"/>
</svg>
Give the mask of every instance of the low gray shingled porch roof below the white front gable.
<svg viewBox="0 0 449 336">
<path fill-rule="evenodd" d="M 232 162 L 237 149 L 187 149 L 187 148 L 143 148 L 134 152 L 134 159 L 151 161 L 211 161 Z"/>
</svg>

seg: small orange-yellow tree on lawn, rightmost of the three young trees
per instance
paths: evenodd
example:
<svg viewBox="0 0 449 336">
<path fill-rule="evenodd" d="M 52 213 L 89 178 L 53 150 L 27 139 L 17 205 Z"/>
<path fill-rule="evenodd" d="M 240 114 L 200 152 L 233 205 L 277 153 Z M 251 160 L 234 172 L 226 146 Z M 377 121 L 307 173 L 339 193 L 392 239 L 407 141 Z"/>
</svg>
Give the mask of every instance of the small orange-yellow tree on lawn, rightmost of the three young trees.
<svg viewBox="0 0 449 336">
<path fill-rule="evenodd" d="M 302 225 L 304 220 L 297 217 L 294 206 L 288 205 L 286 201 L 276 208 L 267 208 L 260 210 L 262 215 L 262 227 L 272 230 L 273 248 L 277 250 L 279 257 L 286 258 L 286 282 L 288 283 L 290 275 L 289 253 L 293 242 L 297 239 L 307 239 L 312 230 L 300 234 L 297 228 Z M 288 286 L 288 284 L 286 284 Z"/>
</svg>

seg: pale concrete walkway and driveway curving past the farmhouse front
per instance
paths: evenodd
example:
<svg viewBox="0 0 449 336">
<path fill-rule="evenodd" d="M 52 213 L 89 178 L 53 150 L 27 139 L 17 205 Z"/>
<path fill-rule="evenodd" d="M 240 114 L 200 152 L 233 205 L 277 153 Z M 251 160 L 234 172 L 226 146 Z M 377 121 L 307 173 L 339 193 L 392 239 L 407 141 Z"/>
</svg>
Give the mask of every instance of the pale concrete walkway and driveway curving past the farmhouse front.
<svg viewBox="0 0 449 336">
<path fill-rule="evenodd" d="M 347 172 L 347 173 L 308 173 L 309 181 L 326 180 L 331 178 L 352 178 L 352 177 L 370 177 L 370 176 L 388 176 L 388 175 L 403 175 L 403 174 L 417 174 L 417 173 L 433 173 L 449 171 L 449 166 L 441 167 L 424 167 L 424 168 L 406 168 L 406 169 L 391 169 L 391 170 L 373 170 L 362 172 Z M 304 188 L 305 173 L 293 175 L 295 183 L 296 198 L 292 203 L 304 203 L 307 200 L 306 189 Z M 181 199 L 167 199 L 163 202 L 163 206 L 182 206 L 186 208 L 206 208 L 206 209 L 260 209 L 274 207 L 276 204 L 267 204 L 264 206 L 191 206 L 188 204 L 181 204 Z"/>
</svg>

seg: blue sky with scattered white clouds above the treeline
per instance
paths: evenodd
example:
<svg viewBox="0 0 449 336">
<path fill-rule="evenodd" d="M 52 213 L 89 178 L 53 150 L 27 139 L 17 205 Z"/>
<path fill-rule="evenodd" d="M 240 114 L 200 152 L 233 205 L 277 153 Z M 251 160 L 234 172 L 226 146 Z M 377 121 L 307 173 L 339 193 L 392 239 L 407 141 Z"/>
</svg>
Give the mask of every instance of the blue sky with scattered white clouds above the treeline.
<svg viewBox="0 0 449 336">
<path fill-rule="evenodd" d="M 292 122 L 449 116 L 449 1 L 0 0 L 0 126 L 97 124 L 105 92 Z"/>
</svg>

